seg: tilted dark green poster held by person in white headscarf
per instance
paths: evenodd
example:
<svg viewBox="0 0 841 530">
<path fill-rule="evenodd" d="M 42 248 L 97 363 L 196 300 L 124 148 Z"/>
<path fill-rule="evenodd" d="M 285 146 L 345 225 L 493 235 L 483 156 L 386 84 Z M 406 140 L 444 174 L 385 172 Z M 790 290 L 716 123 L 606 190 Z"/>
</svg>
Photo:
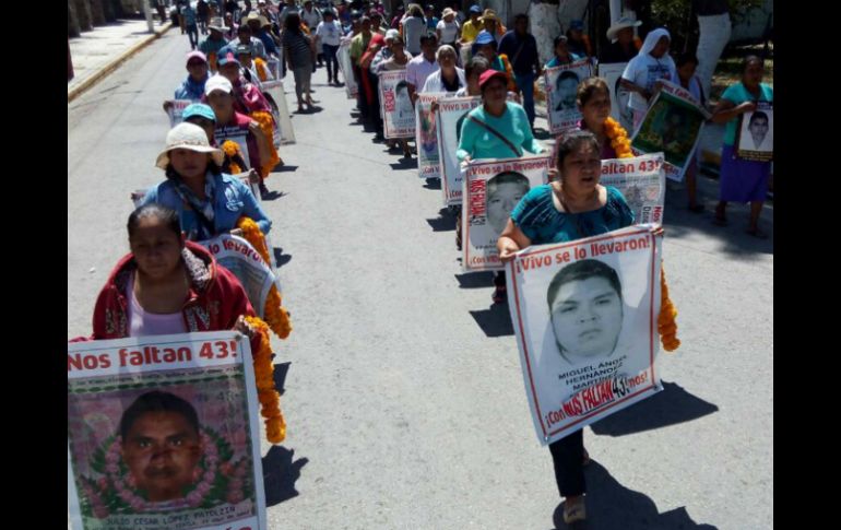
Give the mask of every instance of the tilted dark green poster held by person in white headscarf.
<svg viewBox="0 0 841 530">
<path fill-rule="evenodd" d="M 637 156 L 662 152 L 666 178 L 679 182 L 710 114 L 685 89 L 665 80 L 660 83 L 661 90 L 631 137 L 631 151 Z"/>
</svg>

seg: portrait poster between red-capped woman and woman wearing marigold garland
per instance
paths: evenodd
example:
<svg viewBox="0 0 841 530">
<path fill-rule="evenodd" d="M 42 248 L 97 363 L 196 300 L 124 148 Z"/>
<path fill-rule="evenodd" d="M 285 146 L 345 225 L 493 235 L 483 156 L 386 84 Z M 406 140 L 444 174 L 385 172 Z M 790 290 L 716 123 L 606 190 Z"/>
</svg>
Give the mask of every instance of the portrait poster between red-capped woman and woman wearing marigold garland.
<svg viewBox="0 0 841 530">
<path fill-rule="evenodd" d="M 592 64 L 587 59 L 544 70 L 546 113 L 553 134 L 575 129 L 581 121 L 581 113 L 576 103 L 578 84 L 592 75 Z"/>
</svg>

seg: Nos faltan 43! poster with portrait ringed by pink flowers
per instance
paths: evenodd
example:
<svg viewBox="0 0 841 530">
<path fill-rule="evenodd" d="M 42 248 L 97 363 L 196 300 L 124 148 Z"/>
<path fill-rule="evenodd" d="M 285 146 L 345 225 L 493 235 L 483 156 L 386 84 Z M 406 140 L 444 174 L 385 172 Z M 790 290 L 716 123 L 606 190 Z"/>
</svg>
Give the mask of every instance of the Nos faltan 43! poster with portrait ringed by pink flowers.
<svg viewBox="0 0 841 530">
<path fill-rule="evenodd" d="M 259 410 L 233 331 L 68 344 L 71 527 L 268 528 Z"/>
</svg>

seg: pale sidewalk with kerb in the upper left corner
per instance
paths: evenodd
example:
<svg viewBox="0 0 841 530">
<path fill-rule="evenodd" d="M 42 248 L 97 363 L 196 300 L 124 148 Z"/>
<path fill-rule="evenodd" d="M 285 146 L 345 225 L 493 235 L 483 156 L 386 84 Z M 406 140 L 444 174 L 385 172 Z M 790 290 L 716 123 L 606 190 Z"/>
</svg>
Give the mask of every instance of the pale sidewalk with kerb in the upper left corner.
<svg viewBox="0 0 841 530">
<path fill-rule="evenodd" d="M 152 43 L 170 28 L 171 24 L 154 22 L 155 33 L 149 33 L 144 20 L 119 20 L 105 26 L 96 26 L 80 37 L 70 39 L 70 57 L 73 61 L 73 79 L 68 82 L 68 102 L 93 86 L 122 61 Z"/>
</svg>

